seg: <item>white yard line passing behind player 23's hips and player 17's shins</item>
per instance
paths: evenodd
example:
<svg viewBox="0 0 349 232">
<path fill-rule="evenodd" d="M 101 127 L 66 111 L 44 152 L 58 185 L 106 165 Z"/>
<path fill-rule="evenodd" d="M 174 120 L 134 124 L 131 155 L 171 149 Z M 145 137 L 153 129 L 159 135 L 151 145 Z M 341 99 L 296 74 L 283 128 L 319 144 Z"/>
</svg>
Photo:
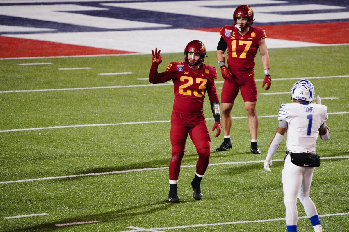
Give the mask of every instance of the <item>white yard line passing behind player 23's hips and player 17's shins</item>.
<svg viewBox="0 0 349 232">
<path fill-rule="evenodd" d="M 330 112 L 328 114 L 349 114 L 347 111 L 343 112 Z M 258 118 L 273 118 L 277 117 L 277 115 L 264 115 L 258 116 Z M 242 117 L 231 117 L 231 119 L 246 119 L 247 116 Z M 208 120 L 214 120 L 214 118 L 207 118 Z M 72 127 L 102 127 L 102 126 L 117 126 L 117 125 L 132 125 L 132 124 L 147 124 L 147 123 L 162 123 L 162 122 L 170 122 L 170 120 L 162 120 L 162 121 L 144 121 L 144 122 L 120 122 L 120 123 L 103 123 L 103 124 L 85 124 L 85 125 L 69 125 L 69 126 L 54 126 L 54 127 L 36 127 L 36 128 L 23 128 L 23 129 L 9 129 L 9 130 L 0 130 L 0 133 L 5 132 L 14 132 L 14 131 L 27 131 L 27 130 L 47 130 L 47 129 L 60 129 L 60 128 L 72 128 Z"/>
</svg>

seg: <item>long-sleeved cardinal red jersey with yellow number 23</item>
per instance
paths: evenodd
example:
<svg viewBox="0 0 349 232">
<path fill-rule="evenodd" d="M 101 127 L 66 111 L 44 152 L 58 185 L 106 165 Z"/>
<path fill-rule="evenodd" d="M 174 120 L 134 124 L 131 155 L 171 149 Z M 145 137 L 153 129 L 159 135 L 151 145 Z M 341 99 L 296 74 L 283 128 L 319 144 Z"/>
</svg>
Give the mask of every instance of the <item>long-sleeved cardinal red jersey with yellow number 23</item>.
<svg viewBox="0 0 349 232">
<path fill-rule="evenodd" d="M 203 114 L 203 99 L 206 91 L 210 102 L 219 101 L 215 78 L 217 78 L 215 67 L 202 64 L 199 70 L 193 70 L 186 62 L 171 62 L 162 73 L 157 73 L 157 66 L 152 65 L 149 73 L 151 83 L 173 81 L 172 112 L 184 114 Z"/>
</svg>

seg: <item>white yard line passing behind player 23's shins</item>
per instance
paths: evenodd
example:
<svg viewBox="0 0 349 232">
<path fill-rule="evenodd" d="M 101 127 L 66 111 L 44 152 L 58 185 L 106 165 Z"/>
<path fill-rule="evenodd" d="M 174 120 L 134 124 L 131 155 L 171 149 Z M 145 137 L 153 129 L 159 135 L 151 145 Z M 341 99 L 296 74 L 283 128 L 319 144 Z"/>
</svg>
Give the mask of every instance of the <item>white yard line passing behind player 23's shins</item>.
<svg viewBox="0 0 349 232">
<path fill-rule="evenodd" d="M 349 159 L 349 156 L 337 156 L 337 157 L 322 157 L 321 160 L 325 159 Z M 272 160 L 276 161 L 284 161 L 283 159 Z M 231 165 L 231 164 L 242 164 L 242 163 L 264 163 L 264 160 L 253 160 L 253 161 L 237 161 L 237 162 L 225 162 L 225 163 L 210 163 L 209 166 L 216 165 Z M 196 165 L 182 165 L 181 168 L 193 168 Z M 48 179 L 62 179 L 62 178 L 73 178 L 73 177 L 81 177 L 81 176 L 98 176 L 98 175 L 110 175 L 110 174 L 119 174 L 119 173 L 131 173 L 135 171 L 149 171 L 149 170 L 159 170 L 159 169 L 168 169 L 169 167 L 158 167 L 158 168 L 140 168 L 140 169 L 128 169 L 121 171 L 108 171 L 103 173 L 87 173 L 87 174 L 78 174 L 78 175 L 70 175 L 70 176 L 53 176 L 53 177 L 43 177 L 43 178 L 35 178 L 35 179 L 21 179 L 17 181 L 2 181 L 0 184 L 9 184 L 9 183 L 18 183 L 18 182 L 29 182 L 29 181 L 43 181 Z"/>
</svg>

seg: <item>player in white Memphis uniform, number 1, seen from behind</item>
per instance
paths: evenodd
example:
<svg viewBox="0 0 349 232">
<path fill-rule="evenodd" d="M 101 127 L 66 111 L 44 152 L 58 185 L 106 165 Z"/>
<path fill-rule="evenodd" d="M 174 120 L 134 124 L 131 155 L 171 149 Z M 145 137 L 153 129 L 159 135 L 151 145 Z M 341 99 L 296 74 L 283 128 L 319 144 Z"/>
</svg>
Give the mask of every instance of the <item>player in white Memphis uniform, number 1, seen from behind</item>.
<svg viewBox="0 0 349 232">
<path fill-rule="evenodd" d="M 277 119 L 279 127 L 270 142 L 264 169 L 271 171 L 272 157 L 279 148 L 287 131 L 285 165 L 282 170 L 284 204 L 286 207 L 287 232 L 297 232 L 297 197 L 304 206 L 315 232 L 322 232 L 318 212 L 309 197 L 310 185 L 315 167 L 320 166 L 320 157 L 315 153 L 315 144 L 320 134 L 321 139 L 329 139 L 330 131 L 327 120 L 327 107 L 311 103 L 315 95 L 314 86 L 308 80 L 299 80 L 292 87 L 291 100 L 280 106 Z"/>
</svg>

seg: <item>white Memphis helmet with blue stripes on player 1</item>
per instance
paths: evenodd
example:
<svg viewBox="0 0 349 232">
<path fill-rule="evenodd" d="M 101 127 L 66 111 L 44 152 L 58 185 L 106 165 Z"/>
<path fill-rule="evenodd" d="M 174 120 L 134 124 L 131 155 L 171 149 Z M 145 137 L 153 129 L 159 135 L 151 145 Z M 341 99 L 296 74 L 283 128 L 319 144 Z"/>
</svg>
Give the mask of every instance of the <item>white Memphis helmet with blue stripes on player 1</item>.
<svg viewBox="0 0 349 232">
<path fill-rule="evenodd" d="M 310 81 L 302 79 L 293 85 L 291 95 L 292 102 L 297 99 L 311 103 L 315 96 L 315 89 Z"/>
</svg>

